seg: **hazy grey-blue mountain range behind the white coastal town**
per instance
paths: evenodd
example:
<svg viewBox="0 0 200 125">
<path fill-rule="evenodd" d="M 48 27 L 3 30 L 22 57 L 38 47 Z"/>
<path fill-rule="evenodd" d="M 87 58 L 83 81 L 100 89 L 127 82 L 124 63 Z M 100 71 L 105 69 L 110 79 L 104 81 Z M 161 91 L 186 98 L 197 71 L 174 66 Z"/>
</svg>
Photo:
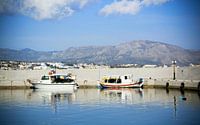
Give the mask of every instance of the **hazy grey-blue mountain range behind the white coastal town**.
<svg viewBox="0 0 200 125">
<path fill-rule="evenodd" d="M 132 41 L 113 46 L 70 47 L 63 51 L 13 50 L 0 48 L 0 60 L 63 61 L 95 64 L 171 64 L 200 63 L 200 51 L 154 41 Z"/>
</svg>

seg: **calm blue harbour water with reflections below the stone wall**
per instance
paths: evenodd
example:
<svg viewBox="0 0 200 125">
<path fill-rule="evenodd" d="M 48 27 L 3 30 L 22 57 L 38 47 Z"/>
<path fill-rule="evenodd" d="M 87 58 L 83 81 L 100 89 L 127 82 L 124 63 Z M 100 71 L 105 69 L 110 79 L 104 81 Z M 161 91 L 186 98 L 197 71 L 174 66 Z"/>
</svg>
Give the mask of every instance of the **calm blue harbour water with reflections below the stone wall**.
<svg viewBox="0 0 200 125">
<path fill-rule="evenodd" d="M 0 90 L 1 125 L 199 125 L 200 95 L 165 89 Z"/>
</svg>

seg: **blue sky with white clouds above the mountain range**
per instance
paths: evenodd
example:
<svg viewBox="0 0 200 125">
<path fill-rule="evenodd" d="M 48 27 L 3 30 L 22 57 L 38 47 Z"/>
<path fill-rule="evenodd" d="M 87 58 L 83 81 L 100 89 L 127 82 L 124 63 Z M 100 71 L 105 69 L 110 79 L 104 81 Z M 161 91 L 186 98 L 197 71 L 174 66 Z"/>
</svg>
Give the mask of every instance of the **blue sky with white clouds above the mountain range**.
<svg viewBox="0 0 200 125">
<path fill-rule="evenodd" d="M 20 2 L 0 2 L 1 48 L 54 51 L 153 40 L 200 49 L 198 0 Z"/>
</svg>

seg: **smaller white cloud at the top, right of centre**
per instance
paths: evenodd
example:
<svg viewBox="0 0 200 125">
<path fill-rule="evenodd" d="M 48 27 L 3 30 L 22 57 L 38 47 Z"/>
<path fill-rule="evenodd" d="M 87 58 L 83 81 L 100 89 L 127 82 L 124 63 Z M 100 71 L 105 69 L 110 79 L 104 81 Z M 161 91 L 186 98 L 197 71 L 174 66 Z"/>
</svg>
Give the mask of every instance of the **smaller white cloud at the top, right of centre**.
<svg viewBox="0 0 200 125">
<path fill-rule="evenodd" d="M 142 8 L 150 5 L 160 5 L 170 0 L 115 0 L 113 3 L 105 5 L 100 14 L 137 14 Z"/>
</svg>

